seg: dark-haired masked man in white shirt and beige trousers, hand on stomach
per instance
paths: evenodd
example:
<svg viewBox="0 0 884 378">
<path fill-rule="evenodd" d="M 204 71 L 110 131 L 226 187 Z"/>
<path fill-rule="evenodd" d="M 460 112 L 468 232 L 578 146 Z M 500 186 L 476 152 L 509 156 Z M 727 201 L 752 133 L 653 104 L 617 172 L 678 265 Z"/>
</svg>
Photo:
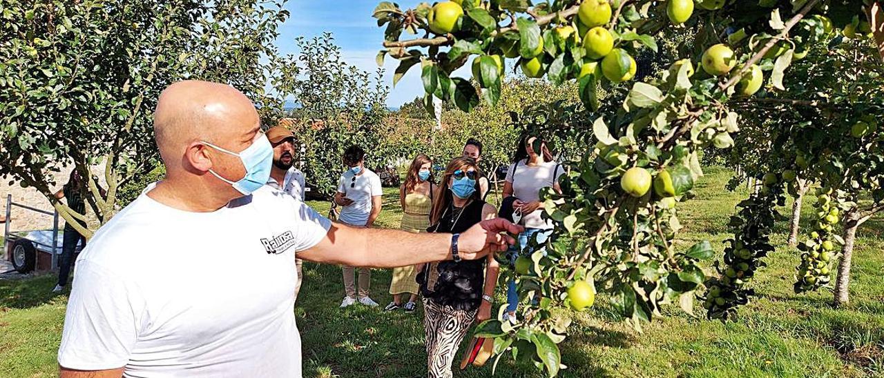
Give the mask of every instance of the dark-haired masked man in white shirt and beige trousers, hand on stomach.
<svg viewBox="0 0 884 378">
<path fill-rule="evenodd" d="M 365 168 L 365 150 L 359 146 L 347 147 L 344 151 L 344 164 L 349 168 L 340 175 L 338 193 L 334 201 L 341 207 L 338 221 L 354 227 L 370 229 L 377 215 L 381 214 L 381 178 L 375 172 Z M 359 298 L 356 298 L 356 272 L 353 267 L 344 267 L 344 291 L 346 296 L 341 301 L 341 308 L 359 303 L 365 306 L 377 306 L 377 302 L 369 297 L 371 270 L 359 268 Z"/>
</svg>

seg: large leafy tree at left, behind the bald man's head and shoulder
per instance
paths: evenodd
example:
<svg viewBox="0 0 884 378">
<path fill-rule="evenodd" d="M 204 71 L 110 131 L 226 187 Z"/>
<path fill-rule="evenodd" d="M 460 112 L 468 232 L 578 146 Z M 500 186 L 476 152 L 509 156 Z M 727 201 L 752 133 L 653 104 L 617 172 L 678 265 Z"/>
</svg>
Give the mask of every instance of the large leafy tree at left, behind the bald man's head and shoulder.
<svg viewBox="0 0 884 378">
<path fill-rule="evenodd" d="M 150 110 L 172 81 L 229 78 L 270 106 L 259 57 L 287 14 L 254 0 L 0 1 L 0 175 L 90 238 L 118 189 L 158 161 Z M 87 178 L 78 189 L 97 222 L 53 196 L 50 173 L 65 166 Z"/>
</svg>

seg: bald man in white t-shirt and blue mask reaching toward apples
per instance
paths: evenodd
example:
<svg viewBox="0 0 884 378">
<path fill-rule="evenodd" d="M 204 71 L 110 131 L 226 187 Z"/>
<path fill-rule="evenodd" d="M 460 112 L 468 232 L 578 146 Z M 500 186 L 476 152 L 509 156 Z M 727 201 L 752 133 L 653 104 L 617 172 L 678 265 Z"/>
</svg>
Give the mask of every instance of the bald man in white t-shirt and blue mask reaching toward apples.
<svg viewBox="0 0 884 378">
<path fill-rule="evenodd" d="M 62 377 L 300 377 L 292 311 L 301 259 L 393 268 L 479 259 L 522 229 L 460 235 L 356 229 L 264 185 L 273 150 L 255 106 L 203 81 L 166 88 L 156 144 L 166 177 L 95 233 L 58 350 Z"/>
</svg>

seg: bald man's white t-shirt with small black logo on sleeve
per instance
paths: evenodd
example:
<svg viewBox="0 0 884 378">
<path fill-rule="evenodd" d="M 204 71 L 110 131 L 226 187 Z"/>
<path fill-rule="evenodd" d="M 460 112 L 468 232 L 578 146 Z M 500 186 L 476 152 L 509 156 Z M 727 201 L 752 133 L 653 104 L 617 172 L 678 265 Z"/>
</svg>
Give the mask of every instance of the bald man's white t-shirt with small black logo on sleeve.
<svg viewBox="0 0 884 378">
<path fill-rule="evenodd" d="M 58 363 L 126 377 L 301 377 L 294 253 L 331 222 L 263 186 L 210 213 L 147 196 L 77 259 Z"/>
</svg>

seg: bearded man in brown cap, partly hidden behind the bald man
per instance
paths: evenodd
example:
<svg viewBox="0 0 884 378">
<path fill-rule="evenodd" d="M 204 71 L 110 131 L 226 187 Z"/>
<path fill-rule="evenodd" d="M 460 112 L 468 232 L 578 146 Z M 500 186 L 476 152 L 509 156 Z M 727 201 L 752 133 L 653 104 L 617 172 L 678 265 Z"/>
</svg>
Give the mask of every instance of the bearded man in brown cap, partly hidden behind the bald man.
<svg viewBox="0 0 884 378">
<path fill-rule="evenodd" d="M 303 202 L 306 184 L 304 174 L 294 167 L 294 147 L 297 145 L 294 141 L 294 134 L 283 126 L 276 126 L 271 127 L 266 135 L 273 147 L 273 166 L 267 185 Z M 304 282 L 303 261 L 294 259 L 294 266 L 298 272 L 298 283 L 294 285 L 294 300 L 297 301 L 298 293 L 301 292 L 301 283 Z"/>
</svg>

